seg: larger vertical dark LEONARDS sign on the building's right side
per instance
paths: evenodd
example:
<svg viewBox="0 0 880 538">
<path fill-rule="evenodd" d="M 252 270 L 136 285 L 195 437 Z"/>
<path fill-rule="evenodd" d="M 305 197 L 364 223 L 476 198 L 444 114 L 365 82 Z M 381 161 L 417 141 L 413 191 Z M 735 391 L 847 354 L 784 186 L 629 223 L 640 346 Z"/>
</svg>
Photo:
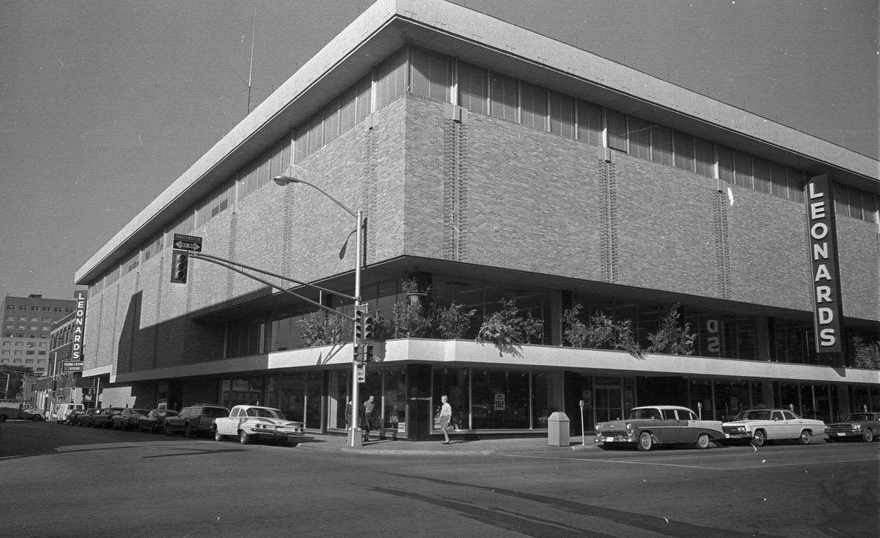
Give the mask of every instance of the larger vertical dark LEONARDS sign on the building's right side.
<svg viewBox="0 0 880 538">
<path fill-rule="evenodd" d="M 843 351 L 840 319 L 843 308 L 840 307 L 832 183 L 826 174 L 817 175 L 807 181 L 806 189 L 816 350 L 819 353 L 840 353 Z"/>
</svg>

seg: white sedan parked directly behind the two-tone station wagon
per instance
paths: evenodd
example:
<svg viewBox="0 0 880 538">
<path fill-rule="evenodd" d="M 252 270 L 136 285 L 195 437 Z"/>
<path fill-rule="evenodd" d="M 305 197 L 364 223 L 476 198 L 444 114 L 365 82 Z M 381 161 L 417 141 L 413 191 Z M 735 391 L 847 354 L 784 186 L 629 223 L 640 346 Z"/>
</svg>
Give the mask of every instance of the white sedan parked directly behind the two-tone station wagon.
<svg viewBox="0 0 880 538">
<path fill-rule="evenodd" d="M 754 446 L 796 439 L 808 445 L 816 435 L 825 435 L 825 423 L 812 418 L 801 418 L 788 409 L 749 409 L 740 411 L 733 420 L 722 424 L 724 439 L 747 440 Z"/>
</svg>

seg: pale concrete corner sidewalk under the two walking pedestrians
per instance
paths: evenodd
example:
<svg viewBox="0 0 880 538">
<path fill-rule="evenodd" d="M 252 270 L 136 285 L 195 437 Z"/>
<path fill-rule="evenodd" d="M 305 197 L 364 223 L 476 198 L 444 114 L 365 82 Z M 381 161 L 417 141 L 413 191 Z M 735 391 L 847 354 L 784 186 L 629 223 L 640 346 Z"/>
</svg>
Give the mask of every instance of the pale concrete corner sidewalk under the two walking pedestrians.
<svg viewBox="0 0 880 538">
<path fill-rule="evenodd" d="M 495 453 L 571 453 L 573 451 L 594 450 L 595 436 L 588 435 L 585 445 L 580 436 L 571 437 L 568 446 L 550 446 L 546 436 L 525 438 L 498 438 L 490 435 L 450 433 L 451 443 L 444 445 L 442 436 L 429 441 L 407 441 L 395 439 L 370 438 L 361 447 L 348 446 L 347 438 L 341 434 L 306 433 L 297 444 L 301 450 L 325 450 L 331 452 L 394 454 L 394 455 L 488 455 Z"/>
</svg>

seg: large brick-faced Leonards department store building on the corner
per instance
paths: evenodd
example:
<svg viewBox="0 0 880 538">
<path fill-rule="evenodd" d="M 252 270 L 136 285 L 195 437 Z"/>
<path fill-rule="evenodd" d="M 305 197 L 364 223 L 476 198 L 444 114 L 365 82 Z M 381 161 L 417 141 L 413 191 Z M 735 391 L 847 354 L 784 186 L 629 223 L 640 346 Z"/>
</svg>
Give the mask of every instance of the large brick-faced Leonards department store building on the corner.
<svg viewBox="0 0 880 538">
<path fill-rule="evenodd" d="M 192 235 L 206 254 L 317 284 L 329 291 L 284 285 L 353 315 L 356 223 L 318 189 L 272 181 L 296 173 L 363 211 L 371 313 L 392 319 L 405 275 L 477 311 L 460 339 L 376 344 L 360 396 L 376 396 L 386 437 L 438 433 L 441 394 L 480 434 L 546 434 L 556 410 L 579 432 L 581 401 L 586 431 L 651 403 L 829 422 L 880 410 L 880 372 L 856 367 L 850 344 L 880 338 L 878 168 L 461 5 L 379 0 L 77 271 L 83 375 L 104 406 L 259 402 L 344 431 L 352 345 L 305 345 L 317 306 L 199 259 L 187 284 L 169 281 L 172 238 Z M 815 178 L 827 192 L 810 191 Z M 827 228 L 810 227 L 817 194 L 833 196 Z M 814 293 L 817 230 L 836 263 L 831 291 Z M 475 341 L 502 299 L 542 321 L 534 342 Z M 840 352 L 816 338 L 823 299 Z M 644 343 L 675 304 L 691 355 L 565 337 L 580 305 L 584 320 L 632 321 Z"/>
</svg>

